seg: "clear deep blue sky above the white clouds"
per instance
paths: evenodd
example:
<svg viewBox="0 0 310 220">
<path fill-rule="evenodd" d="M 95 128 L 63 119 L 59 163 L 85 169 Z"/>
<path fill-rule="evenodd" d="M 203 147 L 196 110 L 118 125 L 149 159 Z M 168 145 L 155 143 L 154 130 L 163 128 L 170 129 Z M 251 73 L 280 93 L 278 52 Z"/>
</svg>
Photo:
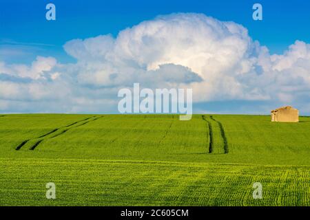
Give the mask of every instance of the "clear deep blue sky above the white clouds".
<svg viewBox="0 0 310 220">
<path fill-rule="evenodd" d="M 257 2 L 263 6 L 264 19 L 259 22 L 251 19 L 251 7 Z M 45 19 L 47 3 L 56 5 L 55 22 Z M 12 45 L 9 42 L 14 41 L 12 47 L 21 43 L 21 47 L 29 46 L 28 49 L 35 52 L 32 56 L 27 54 L 11 60 L 4 57 L 8 62 L 29 62 L 38 54 L 57 56 L 63 62 L 72 61 L 62 48 L 66 41 L 99 34 L 116 36 L 124 28 L 153 19 L 158 14 L 174 12 L 204 13 L 220 21 L 240 23 L 253 39 L 267 45 L 271 53 L 282 53 L 296 39 L 310 42 L 310 2 L 304 0 L 2 0 L 0 10 L 1 45 Z"/>
</svg>

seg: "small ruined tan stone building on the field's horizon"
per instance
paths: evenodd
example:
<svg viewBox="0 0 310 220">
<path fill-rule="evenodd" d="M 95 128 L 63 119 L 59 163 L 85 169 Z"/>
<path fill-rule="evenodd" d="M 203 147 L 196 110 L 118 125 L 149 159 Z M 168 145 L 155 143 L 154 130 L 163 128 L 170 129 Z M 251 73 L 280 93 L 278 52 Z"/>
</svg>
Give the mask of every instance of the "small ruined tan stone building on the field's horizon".
<svg viewBox="0 0 310 220">
<path fill-rule="evenodd" d="M 291 106 L 286 106 L 272 110 L 271 122 L 299 122 L 298 109 L 293 109 Z"/>
</svg>

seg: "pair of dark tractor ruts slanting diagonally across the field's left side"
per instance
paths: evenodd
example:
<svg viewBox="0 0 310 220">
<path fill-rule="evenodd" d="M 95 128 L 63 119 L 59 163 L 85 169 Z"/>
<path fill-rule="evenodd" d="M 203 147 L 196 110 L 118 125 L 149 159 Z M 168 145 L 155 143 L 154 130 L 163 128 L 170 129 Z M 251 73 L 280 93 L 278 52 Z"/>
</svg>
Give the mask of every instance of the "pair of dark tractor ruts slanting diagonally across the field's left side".
<svg viewBox="0 0 310 220">
<path fill-rule="evenodd" d="M 94 119 L 93 119 L 93 120 L 90 120 L 91 118 L 94 118 Z M 54 137 L 57 137 L 57 136 L 59 136 L 59 135 L 62 135 L 63 133 L 66 133 L 66 132 L 69 131 L 70 129 L 74 129 L 74 128 L 76 128 L 76 127 L 82 126 L 82 125 L 87 124 L 87 123 L 89 123 L 89 122 L 94 122 L 95 120 L 99 120 L 99 118 L 103 118 L 103 116 L 100 116 L 100 117 L 92 116 L 92 117 L 89 117 L 89 118 L 85 118 L 85 119 L 83 119 L 83 120 L 79 120 L 79 121 L 77 121 L 77 122 L 73 122 L 73 123 L 68 124 L 68 125 L 66 125 L 66 126 L 61 126 L 61 127 L 58 128 L 58 129 L 54 129 L 54 130 L 52 130 L 52 131 L 50 131 L 50 132 L 48 132 L 48 133 L 45 133 L 44 135 L 41 135 L 41 136 L 36 137 L 36 138 L 32 138 L 32 139 L 30 139 L 30 140 L 36 140 L 36 139 L 39 139 L 39 138 L 43 138 L 43 137 L 46 137 L 46 136 L 48 136 L 48 135 L 52 135 L 53 133 L 56 133 L 56 132 L 59 131 L 60 129 L 68 128 L 68 129 L 65 129 L 65 130 L 61 131 L 61 133 L 58 133 L 58 134 L 56 134 L 56 135 L 52 135 L 51 137 L 48 137 L 48 138 L 46 138 L 46 139 L 54 138 Z M 88 121 L 87 121 L 87 122 L 84 122 L 84 121 L 86 121 L 86 120 L 88 120 Z M 77 126 L 73 126 L 74 124 L 78 124 L 79 122 L 84 122 L 84 123 L 79 124 L 79 125 L 77 125 Z M 72 126 L 72 127 L 70 127 L 70 126 Z M 15 150 L 16 150 L 16 151 L 19 151 L 19 150 L 20 150 L 25 144 L 27 144 L 30 140 L 24 140 L 23 142 L 21 142 L 21 144 L 19 144 L 19 145 L 15 148 Z M 33 144 L 33 145 L 29 148 L 30 151 L 33 151 L 35 148 L 37 148 L 37 146 L 38 146 L 39 144 L 41 144 L 41 142 L 43 142 L 43 140 L 45 140 L 45 139 L 43 138 L 43 139 L 41 139 L 41 140 L 38 140 L 35 144 Z"/>
</svg>

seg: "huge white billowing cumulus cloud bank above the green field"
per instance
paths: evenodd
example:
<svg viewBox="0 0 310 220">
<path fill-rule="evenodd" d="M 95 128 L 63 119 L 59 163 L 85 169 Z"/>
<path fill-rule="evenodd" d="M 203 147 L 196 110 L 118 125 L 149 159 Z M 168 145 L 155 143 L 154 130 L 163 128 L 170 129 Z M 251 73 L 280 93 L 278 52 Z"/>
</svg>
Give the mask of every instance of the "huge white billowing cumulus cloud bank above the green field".
<svg viewBox="0 0 310 220">
<path fill-rule="evenodd" d="M 118 89 L 133 83 L 192 88 L 194 102 L 302 107 L 310 99 L 309 44 L 296 41 L 284 54 L 269 54 L 242 25 L 204 14 L 160 16 L 116 38 L 73 39 L 63 48 L 76 63 L 40 56 L 30 65 L 0 61 L 1 111 L 17 111 L 21 102 L 29 109 L 34 101 L 39 111 L 54 111 L 46 100 L 65 112 L 116 111 Z"/>
</svg>

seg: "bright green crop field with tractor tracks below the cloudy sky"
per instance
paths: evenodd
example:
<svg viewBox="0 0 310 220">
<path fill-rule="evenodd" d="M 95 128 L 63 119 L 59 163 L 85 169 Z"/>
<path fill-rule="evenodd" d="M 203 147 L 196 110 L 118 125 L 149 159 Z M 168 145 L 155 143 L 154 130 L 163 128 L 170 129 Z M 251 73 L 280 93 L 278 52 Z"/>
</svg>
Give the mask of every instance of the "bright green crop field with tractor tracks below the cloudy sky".
<svg viewBox="0 0 310 220">
<path fill-rule="evenodd" d="M 309 206 L 309 168 L 307 117 L 0 115 L 0 206 Z"/>
</svg>

